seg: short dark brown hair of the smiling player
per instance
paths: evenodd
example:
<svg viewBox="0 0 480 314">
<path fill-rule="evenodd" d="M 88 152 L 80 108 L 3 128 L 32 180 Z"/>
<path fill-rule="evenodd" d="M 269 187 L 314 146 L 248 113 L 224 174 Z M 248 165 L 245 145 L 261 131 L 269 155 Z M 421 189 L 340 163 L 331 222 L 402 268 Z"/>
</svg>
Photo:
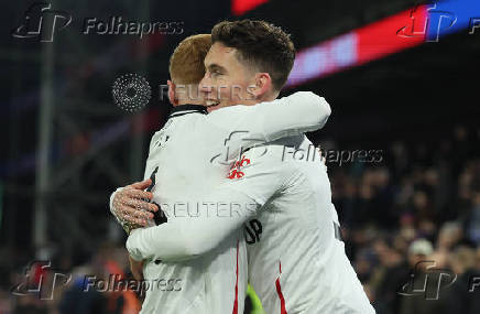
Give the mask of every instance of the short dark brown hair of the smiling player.
<svg viewBox="0 0 480 314">
<path fill-rule="evenodd" d="M 238 59 L 272 77 L 273 88 L 285 85 L 295 59 L 290 35 L 265 21 L 223 21 L 211 30 L 211 42 L 238 51 Z"/>
</svg>

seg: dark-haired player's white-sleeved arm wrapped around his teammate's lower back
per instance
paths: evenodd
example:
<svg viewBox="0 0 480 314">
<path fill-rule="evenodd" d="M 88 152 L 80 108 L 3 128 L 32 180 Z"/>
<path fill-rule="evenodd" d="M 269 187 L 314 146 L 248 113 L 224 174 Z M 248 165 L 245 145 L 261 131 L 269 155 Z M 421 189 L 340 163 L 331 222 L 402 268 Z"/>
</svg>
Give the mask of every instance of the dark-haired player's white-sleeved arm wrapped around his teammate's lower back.
<svg viewBox="0 0 480 314">
<path fill-rule="evenodd" d="M 241 178 L 226 178 L 223 184 L 214 187 L 210 195 L 188 201 L 189 206 L 218 204 L 222 210 L 211 210 L 208 216 L 200 212 L 198 217 L 184 217 L 156 227 L 133 230 L 127 240 L 131 257 L 135 260 L 181 261 L 210 251 L 255 216 L 257 210 L 275 192 L 281 191 L 292 175 L 290 167 L 285 167 L 280 160 L 272 161 L 268 154 L 250 161 L 241 171 L 244 173 Z"/>
</svg>

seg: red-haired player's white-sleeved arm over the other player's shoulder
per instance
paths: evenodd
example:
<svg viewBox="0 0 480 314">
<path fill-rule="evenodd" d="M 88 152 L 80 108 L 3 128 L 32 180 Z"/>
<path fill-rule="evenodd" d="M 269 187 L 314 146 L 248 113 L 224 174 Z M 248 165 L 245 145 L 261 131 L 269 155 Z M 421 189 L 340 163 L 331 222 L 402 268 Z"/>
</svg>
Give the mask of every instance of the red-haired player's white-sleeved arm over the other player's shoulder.
<svg viewBox="0 0 480 314">
<path fill-rule="evenodd" d="M 212 111 L 208 119 L 230 131 L 246 131 L 244 148 L 298 136 L 325 126 L 331 113 L 324 97 L 297 91 L 287 97 L 255 106 L 231 106 Z"/>
</svg>

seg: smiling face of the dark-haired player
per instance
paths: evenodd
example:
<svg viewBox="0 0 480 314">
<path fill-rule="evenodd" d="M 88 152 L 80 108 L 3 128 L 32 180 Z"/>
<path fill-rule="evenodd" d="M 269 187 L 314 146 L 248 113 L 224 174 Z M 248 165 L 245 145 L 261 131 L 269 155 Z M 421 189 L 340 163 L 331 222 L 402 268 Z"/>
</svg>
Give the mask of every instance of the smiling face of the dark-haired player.
<svg viewBox="0 0 480 314">
<path fill-rule="evenodd" d="M 222 107 L 258 102 L 251 93 L 255 74 L 237 59 L 236 52 L 236 48 L 215 43 L 205 57 L 200 91 L 205 94 L 209 112 Z"/>
</svg>

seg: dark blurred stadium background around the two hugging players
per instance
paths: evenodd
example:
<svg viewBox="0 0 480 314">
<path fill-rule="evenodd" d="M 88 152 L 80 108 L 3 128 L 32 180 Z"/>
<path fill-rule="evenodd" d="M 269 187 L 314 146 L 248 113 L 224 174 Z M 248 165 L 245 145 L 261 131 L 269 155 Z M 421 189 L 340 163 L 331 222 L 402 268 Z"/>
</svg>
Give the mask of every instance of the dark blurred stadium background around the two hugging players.
<svg viewBox="0 0 480 314">
<path fill-rule="evenodd" d="M 316 144 L 380 152 L 375 162 L 327 160 L 347 253 L 378 313 L 480 313 L 478 290 L 468 292 L 480 274 L 480 30 L 469 34 L 478 1 L 50 1 L 73 17 L 50 43 L 12 36 L 32 3 L 4 2 L 0 12 L 1 314 L 133 306 L 132 294 L 80 293 L 78 280 L 58 284 L 53 300 L 12 288 L 33 291 L 42 273 L 52 280 L 39 264 L 25 273 L 34 260 L 74 279 L 127 271 L 107 201 L 143 175 L 150 138 L 171 108 L 159 99 L 168 56 L 185 36 L 239 18 L 292 33 L 298 56 L 283 94 L 313 90 L 332 108 L 309 134 Z M 182 22 L 182 34 L 81 33 L 86 18 L 112 15 Z M 111 97 L 127 73 L 152 86 L 137 113 Z M 397 293 L 418 260 L 457 274 L 438 300 Z"/>
</svg>

